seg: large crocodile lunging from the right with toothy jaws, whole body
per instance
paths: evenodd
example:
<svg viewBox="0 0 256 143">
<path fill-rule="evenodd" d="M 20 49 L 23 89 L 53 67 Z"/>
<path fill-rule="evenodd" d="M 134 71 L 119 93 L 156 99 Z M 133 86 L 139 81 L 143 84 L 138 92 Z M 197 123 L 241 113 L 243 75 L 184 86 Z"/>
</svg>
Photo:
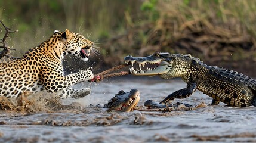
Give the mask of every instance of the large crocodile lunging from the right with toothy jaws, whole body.
<svg viewBox="0 0 256 143">
<path fill-rule="evenodd" d="M 190 54 L 155 52 L 147 57 L 128 55 L 124 61 L 132 65 L 129 71 L 134 76 L 181 77 L 187 83 L 186 88 L 169 94 L 161 104 L 189 97 L 198 89 L 212 97 L 212 105 L 223 102 L 233 107 L 256 106 L 256 80 L 223 67 L 208 66 Z"/>
</svg>

